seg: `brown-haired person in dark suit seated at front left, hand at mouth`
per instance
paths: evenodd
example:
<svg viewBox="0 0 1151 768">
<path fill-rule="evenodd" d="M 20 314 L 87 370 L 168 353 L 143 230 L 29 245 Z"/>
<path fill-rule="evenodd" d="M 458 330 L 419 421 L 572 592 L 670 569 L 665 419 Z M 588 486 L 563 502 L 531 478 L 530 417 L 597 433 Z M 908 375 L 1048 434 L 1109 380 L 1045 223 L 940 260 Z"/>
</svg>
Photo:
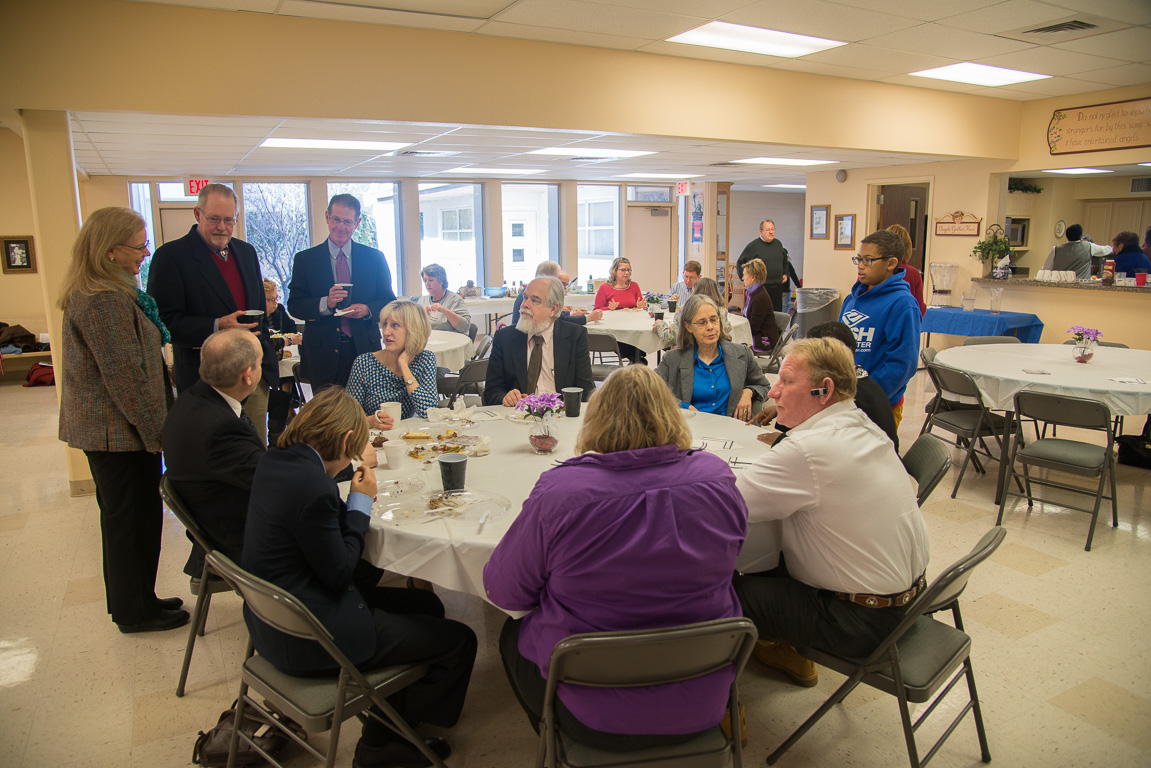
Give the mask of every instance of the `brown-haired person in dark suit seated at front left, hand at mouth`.
<svg viewBox="0 0 1151 768">
<path fill-rule="evenodd" d="M 310 400 L 256 467 L 244 530 L 242 567 L 287 590 L 315 614 L 336 646 L 364 670 L 394 664 L 429 667 L 392 705 L 410 724 L 456 724 L 475 661 L 475 633 L 445 619 L 432 592 L 364 584 L 357 579 L 371 525 L 375 476 L 356 470 L 348 500 L 336 474 L 367 444 L 359 404 L 338 387 Z M 376 579 L 378 580 L 378 579 Z M 335 675 L 331 656 L 313 640 L 284 634 L 244 607 L 256 649 L 298 676 Z M 429 765 L 427 751 L 447 758 L 442 738 L 410 744 L 373 717 L 364 721 L 356 766 Z"/>
</svg>

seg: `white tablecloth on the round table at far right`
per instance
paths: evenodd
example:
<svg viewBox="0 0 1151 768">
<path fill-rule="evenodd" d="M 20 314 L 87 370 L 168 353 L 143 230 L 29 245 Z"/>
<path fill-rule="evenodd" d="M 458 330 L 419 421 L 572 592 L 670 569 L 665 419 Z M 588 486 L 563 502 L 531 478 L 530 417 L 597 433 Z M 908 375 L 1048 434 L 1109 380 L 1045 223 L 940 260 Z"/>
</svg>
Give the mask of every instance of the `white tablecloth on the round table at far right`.
<svg viewBox="0 0 1151 768">
<path fill-rule="evenodd" d="M 1015 393 L 1027 388 L 1097 400 L 1115 416 L 1151 413 L 1151 351 L 1098 347 L 1089 363 L 1076 363 L 1072 349 L 1067 344 L 977 344 L 945 349 L 936 362 L 970 373 L 994 410 L 1015 410 Z M 1114 381 L 1125 378 L 1149 383 Z"/>
</svg>

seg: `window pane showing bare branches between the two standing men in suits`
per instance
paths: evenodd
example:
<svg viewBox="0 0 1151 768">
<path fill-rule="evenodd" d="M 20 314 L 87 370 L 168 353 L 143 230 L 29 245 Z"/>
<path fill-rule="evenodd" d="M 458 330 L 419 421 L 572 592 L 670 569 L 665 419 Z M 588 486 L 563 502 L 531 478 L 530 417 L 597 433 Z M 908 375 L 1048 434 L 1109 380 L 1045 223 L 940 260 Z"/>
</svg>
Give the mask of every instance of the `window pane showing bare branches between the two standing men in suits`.
<svg viewBox="0 0 1151 768">
<path fill-rule="evenodd" d="M 312 246 L 307 227 L 307 183 L 245 182 L 241 184 L 244 239 L 256 248 L 264 276 L 287 297 L 292 257 Z"/>
</svg>

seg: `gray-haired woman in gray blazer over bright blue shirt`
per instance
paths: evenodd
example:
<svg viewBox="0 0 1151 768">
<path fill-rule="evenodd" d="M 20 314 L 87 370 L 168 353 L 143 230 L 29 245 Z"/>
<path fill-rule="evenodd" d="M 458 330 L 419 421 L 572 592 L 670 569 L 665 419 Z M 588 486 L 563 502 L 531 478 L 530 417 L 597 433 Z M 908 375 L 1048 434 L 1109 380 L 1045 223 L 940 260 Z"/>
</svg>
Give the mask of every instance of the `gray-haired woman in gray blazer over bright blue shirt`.
<svg viewBox="0 0 1151 768">
<path fill-rule="evenodd" d="M 680 408 L 746 421 L 770 387 L 752 350 L 733 344 L 722 322 L 716 303 L 693 294 L 680 315 L 679 349 L 663 356 L 656 373 Z"/>
</svg>

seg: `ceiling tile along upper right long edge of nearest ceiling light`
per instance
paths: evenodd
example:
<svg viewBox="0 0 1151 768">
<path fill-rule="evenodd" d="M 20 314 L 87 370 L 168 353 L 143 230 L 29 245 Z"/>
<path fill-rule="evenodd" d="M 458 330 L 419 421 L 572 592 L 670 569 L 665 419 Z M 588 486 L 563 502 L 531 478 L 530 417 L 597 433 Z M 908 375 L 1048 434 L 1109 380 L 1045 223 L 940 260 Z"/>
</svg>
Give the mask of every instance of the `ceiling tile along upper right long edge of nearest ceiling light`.
<svg viewBox="0 0 1151 768">
<path fill-rule="evenodd" d="M 803 2 L 759 0 L 754 5 L 727 14 L 723 20 L 848 43 L 916 24 L 915 20 L 906 16 L 837 6 L 824 0 Z"/>
</svg>

